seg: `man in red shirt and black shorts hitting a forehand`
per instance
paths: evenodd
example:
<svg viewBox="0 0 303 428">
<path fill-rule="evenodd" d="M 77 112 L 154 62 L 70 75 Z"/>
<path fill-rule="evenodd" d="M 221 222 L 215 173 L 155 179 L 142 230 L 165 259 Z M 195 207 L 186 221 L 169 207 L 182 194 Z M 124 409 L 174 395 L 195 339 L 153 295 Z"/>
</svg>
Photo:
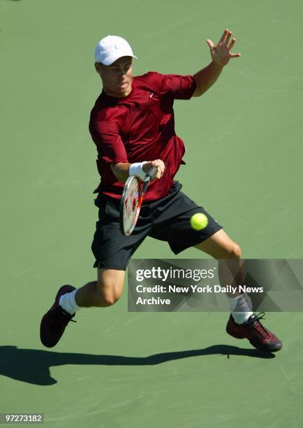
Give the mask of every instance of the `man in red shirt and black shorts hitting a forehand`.
<svg viewBox="0 0 303 428">
<path fill-rule="evenodd" d="M 193 76 L 149 72 L 133 77 L 136 57 L 124 38 L 107 36 L 96 46 L 95 68 L 101 76 L 103 92 L 91 110 L 89 131 L 98 150 L 101 175 L 101 183 L 94 191 L 98 193 L 95 204 L 99 211 L 91 245 L 98 279 L 78 290 L 71 285 L 59 289 L 40 324 L 40 338 L 45 346 L 51 348 L 58 343 L 80 308 L 111 306 L 119 299 L 128 262 L 147 236 L 167 241 L 175 254 L 194 246 L 215 259 L 240 263 L 239 245 L 173 180 L 184 163 L 184 143 L 175 134 L 174 100 L 200 97 L 216 82 L 230 59 L 240 56 L 231 53 L 235 38 L 228 29 L 217 45 L 209 39 L 207 44 L 212 62 Z M 125 236 L 119 226 L 124 183 L 130 175 L 145 178 L 152 166 L 156 166 L 156 177 L 147 188 L 133 233 Z M 207 215 L 207 227 L 201 231 L 191 228 L 190 219 L 195 213 Z M 226 264 L 221 263 L 219 269 L 226 284 L 239 283 Z M 281 341 L 251 311 L 247 296 L 239 294 L 228 299 L 228 334 L 248 338 L 258 349 L 281 349 Z"/>
</svg>

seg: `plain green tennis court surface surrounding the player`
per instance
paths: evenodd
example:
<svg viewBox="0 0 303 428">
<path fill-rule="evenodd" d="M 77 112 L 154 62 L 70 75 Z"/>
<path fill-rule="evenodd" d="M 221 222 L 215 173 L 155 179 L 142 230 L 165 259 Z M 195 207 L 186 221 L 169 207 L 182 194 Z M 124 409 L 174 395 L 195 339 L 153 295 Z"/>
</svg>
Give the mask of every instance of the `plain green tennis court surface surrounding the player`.
<svg viewBox="0 0 303 428">
<path fill-rule="evenodd" d="M 88 120 L 107 34 L 131 43 L 135 74 L 189 74 L 210 61 L 205 39 L 232 29 L 242 57 L 175 103 L 188 148 L 177 177 L 243 257 L 303 258 L 302 12 L 293 0 L 0 1 L 0 413 L 44 413 L 54 428 L 302 427 L 302 313 L 267 313 L 284 348 L 264 355 L 225 333 L 228 313 L 127 313 L 124 290 L 80 311 L 56 348 L 39 340 L 59 286 L 96 279 Z M 174 257 L 151 238 L 135 255 Z"/>
</svg>

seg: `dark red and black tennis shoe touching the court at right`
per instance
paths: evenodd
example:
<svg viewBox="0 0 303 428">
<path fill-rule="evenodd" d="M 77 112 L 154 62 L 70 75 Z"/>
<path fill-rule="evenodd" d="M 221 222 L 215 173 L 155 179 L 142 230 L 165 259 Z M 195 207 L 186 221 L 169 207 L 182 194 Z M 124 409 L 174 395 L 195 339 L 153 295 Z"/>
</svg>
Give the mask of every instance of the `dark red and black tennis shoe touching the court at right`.
<svg viewBox="0 0 303 428">
<path fill-rule="evenodd" d="M 258 315 L 253 313 L 244 324 L 237 324 L 230 315 L 226 325 L 226 331 L 235 338 L 247 338 L 251 345 L 260 350 L 276 352 L 282 348 L 282 342 L 279 341 L 272 331 L 265 329 L 259 320 L 263 320 L 265 313 Z"/>
</svg>

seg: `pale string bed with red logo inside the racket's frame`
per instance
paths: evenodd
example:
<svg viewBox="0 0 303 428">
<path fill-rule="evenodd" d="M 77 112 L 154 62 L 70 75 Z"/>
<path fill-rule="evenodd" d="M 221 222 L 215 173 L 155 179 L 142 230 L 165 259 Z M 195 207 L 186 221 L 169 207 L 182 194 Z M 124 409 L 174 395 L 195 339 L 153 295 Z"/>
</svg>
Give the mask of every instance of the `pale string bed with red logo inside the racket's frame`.
<svg viewBox="0 0 303 428">
<path fill-rule="evenodd" d="M 140 201 L 140 188 L 137 178 L 131 180 L 124 197 L 123 206 L 123 225 L 126 234 L 133 230 L 134 223 L 137 220 L 138 207 Z"/>
</svg>

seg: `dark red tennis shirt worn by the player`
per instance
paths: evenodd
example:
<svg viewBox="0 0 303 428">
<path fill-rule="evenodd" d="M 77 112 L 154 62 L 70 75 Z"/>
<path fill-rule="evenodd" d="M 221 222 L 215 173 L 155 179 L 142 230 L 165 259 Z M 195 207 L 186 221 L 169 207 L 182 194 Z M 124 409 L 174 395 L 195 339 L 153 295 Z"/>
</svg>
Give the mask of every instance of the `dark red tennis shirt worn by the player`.
<svg viewBox="0 0 303 428">
<path fill-rule="evenodd" d="M 127 97 L 114 98 L 101 93 L 89 121 L 101 176 L 101 183 L 94 193 L 121 197 L 124 183 L 119 183 L 112 173 L 112 162 L 161 159 L 165 173 L 151 182 L 145 201 L 168 194 L 184 155 L 184 143 L 175 134 L 172 106 L 174 99 L 190 99 L 194 91 L 192 76 L 149 72 L 133 78 L 132 90 Z"/>
</svg>

